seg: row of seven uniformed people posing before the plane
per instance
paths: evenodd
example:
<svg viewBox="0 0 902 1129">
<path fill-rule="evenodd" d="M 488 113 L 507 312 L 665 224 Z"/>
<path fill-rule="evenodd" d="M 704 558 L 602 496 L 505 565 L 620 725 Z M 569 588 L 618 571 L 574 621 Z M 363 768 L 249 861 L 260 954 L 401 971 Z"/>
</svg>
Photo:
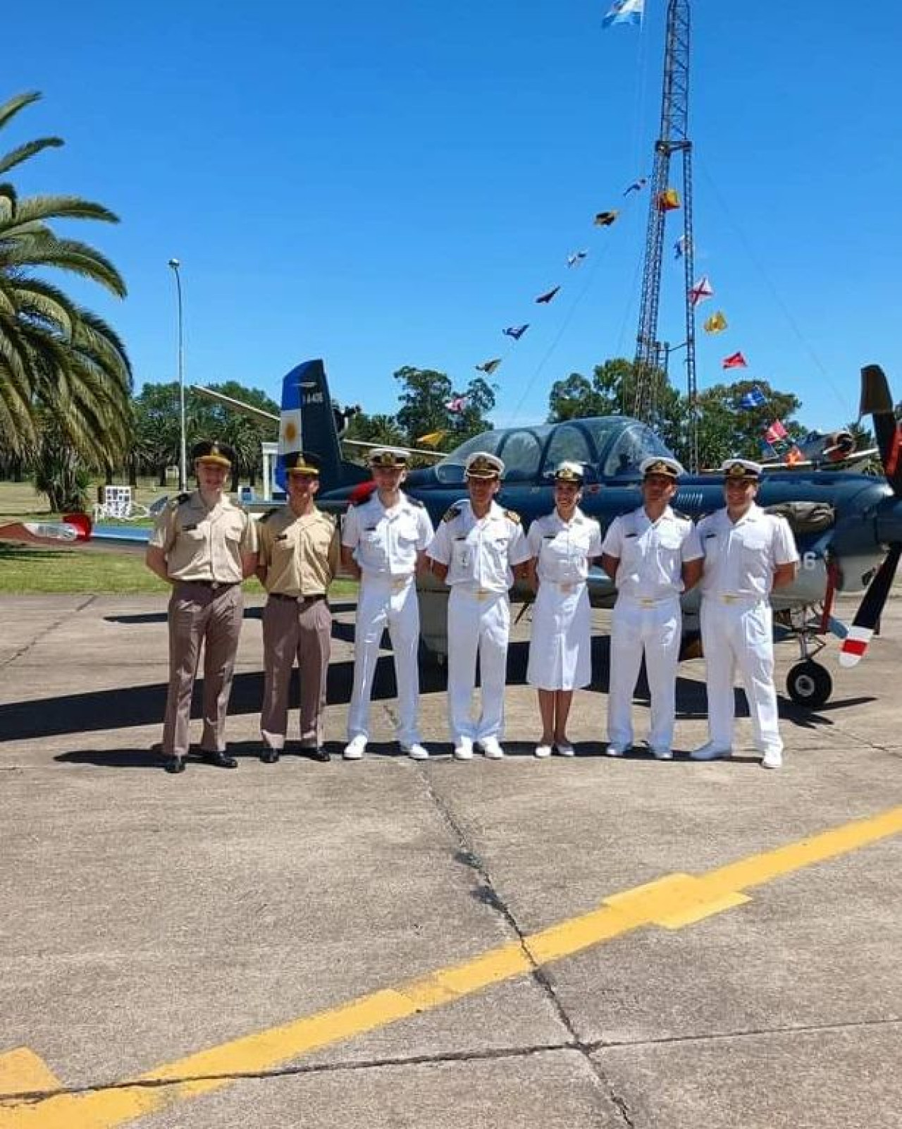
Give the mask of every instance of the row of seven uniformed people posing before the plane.
<svg viewBox="0 0 902 1129">
<path fill-rule="evenodd" d="M 222 768 L 236 767 L 227 753 L 224 724 L 242 615 L 241 581 L 254 574 L 268 596 L 263 613 L 260 759 L 274 763 L 284 749 L 289 684 L 297 660 L 301 749 L 328 761 L 324 746 L 331 637 L 327 595 L 339 564 L 361 581 L 346 760 L 360 760 L 366 749 L 384 629 L 398 684 L 398 743 L 415 760 L 428 756 L 417 723 L 416 576 L 424 570 L 451 589 L 448 719 L 454 758 L 470 760 L 475 747 L 492 760 L 504 756 L 509 593 L 516 579 L 530 581 L 536 592 L 527 672 L 527 681 L 537 688 L 541 715 L 536 755 L 573 756 L 567 720 L 574 690 L 592 677 L 586 583 L 596 560 L 617 586 L 608 755 L 621 756 L 634 744 L 633 693 L 644 658 L 651 692 L 647 743 L 658 760 L 673 756 L 680 597 L 700 583 L 709 739 L 691 756 L 714 760 L 732 754 L 733 682 L 739 669 L 762 764 L 780 767 L 768 597 L 773 587 L 793 580 L 798 553 L 785 519 L 755 504 L 758 463 L 727 460 L 722 467 L 725 507 L 693 525 L 670 505 L 683 473 L 680 464 L 670 457 L 646 458 L 640 467 L 643 505 L 614 518 L 602 537 L 599 523 L 580 509 L 582 465 L 564 462 L 555 473 L 555 509 L 537 518 L 525 535 L 519 516 L 495 500 L 504 474 L 496 455 L 469 456 L 468 497 L 456 502 L 434 531 L 422 502 L 401 490 L 407 453 L 378 448 L 370 456 L 373 489 L 348 508 L 339 544 L 335 519 L 316 506 L 319 467 L 311 455 L 286 456 L 288 501 L 257 523 L 224 493 L 231 449 L 205 441 L 194 447 L 192 456 L 197 489 L 179 495 L 162 511 L 147 555 L 148 567 L 173 585 L 162 736 L 168 771 L 180 772 L 185 765 L 202 648 L 201 752 Z M 474 718 L 477 656 L 480 708 Z"/>
</svg>

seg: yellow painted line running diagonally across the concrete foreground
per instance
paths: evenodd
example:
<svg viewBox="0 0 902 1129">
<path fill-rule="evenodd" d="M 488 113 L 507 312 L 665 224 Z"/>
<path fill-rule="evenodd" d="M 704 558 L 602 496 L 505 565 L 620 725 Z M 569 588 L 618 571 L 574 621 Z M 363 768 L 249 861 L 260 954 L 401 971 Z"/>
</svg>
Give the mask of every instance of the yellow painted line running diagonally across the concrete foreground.
<svg viewBox="0 0 902 1129">
<path fill-rule="evenodd" d="M 744 904 L 750 900 L 745 890 L 900 833 L 902 806 L 706 874 L 665 875 L 613 894 L 589 913 L 532 934 L 522 945 L 516 942 L 499 945 L 462 964 L 439 969 L 396 988 L 374 991 L 292 1023 L 188 1054 L 115 1087 L 51 1094 L 34 1102 L 16 1099 L 16 1093 L 59 1086 L 41 1060 L 20 1048 L 0 1057 L 0 1066 L 8 1060 L 5 1073 L 0 1074 L 6 1080 L 0 1088 L 0 1129 L 113 1129 L 177 1102 L 221 1089 L 233 1082 L 231 1075 L 271 1070 L 311 1051 L 525 975 L 537 965 L 559 961 L 635 929 L 651 925 L 680 929 L 692 925 Z M 14 1059 L 14 1056 L 20 1057 Z M 52 1085 L 27 1084 L 29 1078 L 42 1076 Z"/>
</svg>

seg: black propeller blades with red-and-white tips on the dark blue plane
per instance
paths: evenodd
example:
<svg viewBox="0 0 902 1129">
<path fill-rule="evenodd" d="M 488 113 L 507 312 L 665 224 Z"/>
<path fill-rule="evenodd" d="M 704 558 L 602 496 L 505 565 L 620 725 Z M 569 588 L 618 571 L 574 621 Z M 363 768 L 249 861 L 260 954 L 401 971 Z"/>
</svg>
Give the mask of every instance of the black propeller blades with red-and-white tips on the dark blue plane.
<svg viewBox="0 0 902 1129">
<path fill-rule="evenodd" d="M 893 496 L 902 499 L 902 425 L 896 422 L 890 385 L 879 365 L 866 365 L 861 369 L 860 414 L 868 414 L 874 420 L 883 472 Z M 864 657 L 870 637 L 879 624 L 900 557 L 902 557 L 902 542 L 890 541 L 888 552 L 874 574 L 849 633 L 842 640 L 840 666 L 855 666 Z"/>
</svg>

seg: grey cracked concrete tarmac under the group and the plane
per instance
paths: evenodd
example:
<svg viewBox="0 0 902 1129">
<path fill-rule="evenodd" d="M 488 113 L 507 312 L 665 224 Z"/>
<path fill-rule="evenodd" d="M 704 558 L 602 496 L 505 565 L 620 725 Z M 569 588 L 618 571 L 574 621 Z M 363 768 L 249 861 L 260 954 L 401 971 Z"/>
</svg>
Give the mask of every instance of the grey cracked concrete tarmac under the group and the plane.
<svg viewBox="0 0 902 1129">
<path fill-rule="evenodd" d="M 603 612 L 574 760 L 532 756 L 524 620 L 505 761 L 451 759 L 431 671 L 434 755 L 399 755 L 386 651 L 368 756 L 343 762 L 353 603 L 335 609 L 333 762 L 290 746 L 265 765 L 262 599 L 248 604 L 229 721 L 239 769 L 192 761 L 173 777 L 153 751 L 162 602 L 0 601 L 0 1129 L 902 1123 L 902 834 L 854 830 L 822 861 L 793 848 L 788 869 L 766 873 L 767 852 L 902 805 L 896 596 L 857 668 L 839 668 L 834 644 L 822 656 L 825 707 L 781 695 L 773 772 L 748 718 L 732 761 L 686 758 L 706 737 L 700 660 L 680 667 L 673 762 L 601 755 Z M 781 689 L 798 656 L 777 653 Z M 642 736 L 642 694 L 635 717 Z M 613 926 L 585 924 L 612 895 L 740 859 L 751 885 L 723 903 L 695 912 L 673 879 L 675 893 L 629 895 Z M 572 955 L 537 956 L 529 938 L 561 922 Z M 494 953 L 510 969 L 478 986 L 477 959 Z M 467 987 L 442 995 L 457 965 Z M 374 992 L 365 1022 L 336 1018 Z M 424 1003 L 408 1014 L 412 996 Z M 300 1051 L 292 1025 L 308 1016 Z M 160 1067 L 162 1083 L 121 1085 Z"/>
</svg>

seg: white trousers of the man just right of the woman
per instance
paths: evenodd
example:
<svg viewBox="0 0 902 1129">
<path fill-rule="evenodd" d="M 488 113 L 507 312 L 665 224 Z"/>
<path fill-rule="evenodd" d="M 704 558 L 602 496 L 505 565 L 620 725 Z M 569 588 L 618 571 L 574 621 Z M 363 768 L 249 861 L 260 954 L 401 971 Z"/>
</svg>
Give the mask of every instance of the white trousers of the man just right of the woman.
<svg viewBox="0 0 902 1129">
<path fill-rule="evenodd" d="M 643 655 L 652 720 L 648 744 L 671 749 L 676 718 L 676 667 L 680 660 L 682 614 L 680 599 L 664 599 L 651 607 L 618 597 L 611 613 L 611 676 L 608 694 L 608 741 L 629 749 L 633 744 L 633 692 Z"/>
</svg>

